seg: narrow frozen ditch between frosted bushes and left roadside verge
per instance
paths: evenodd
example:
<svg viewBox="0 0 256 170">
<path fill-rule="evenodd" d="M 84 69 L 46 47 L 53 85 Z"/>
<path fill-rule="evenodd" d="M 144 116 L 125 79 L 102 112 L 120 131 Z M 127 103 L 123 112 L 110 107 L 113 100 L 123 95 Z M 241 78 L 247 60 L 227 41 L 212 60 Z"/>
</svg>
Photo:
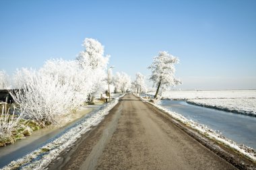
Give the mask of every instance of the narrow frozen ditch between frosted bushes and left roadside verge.
<svg viewBox="0 0 256 170">
<path fill-rule="evenodd" d="M 104 105 L 86 105 L 79 109 L 72 122 L 65 124 L 65 126 L 49 126 L 40 130 L 34 131 L 32 136 L 26 136 L 22 140 L 18 140 L 14 144 L 0 148 L 0 168 L 7 165 L 11 161 L 24 157 L 28 153 L 35 151 L 37 148 L 48 144 L 73 128 L 81 122 L 87 114 L 97 112 Z"/>
</svg>

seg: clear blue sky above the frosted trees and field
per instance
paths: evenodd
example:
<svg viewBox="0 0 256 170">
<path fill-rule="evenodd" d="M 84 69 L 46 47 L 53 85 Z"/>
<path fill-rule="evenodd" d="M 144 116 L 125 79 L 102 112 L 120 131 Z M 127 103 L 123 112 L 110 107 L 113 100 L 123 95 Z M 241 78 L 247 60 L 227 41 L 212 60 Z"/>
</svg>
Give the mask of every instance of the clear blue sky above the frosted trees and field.
<svg viewBox="0 0 256 170">
<path fill-rule="evenodd" d="M 150 75 L 178 56 L 181 89 L 256 89 L 256 1 L 0 0 L 0 70 L 73 60 L 95 38 L 115 71 Z"/>
</svg>

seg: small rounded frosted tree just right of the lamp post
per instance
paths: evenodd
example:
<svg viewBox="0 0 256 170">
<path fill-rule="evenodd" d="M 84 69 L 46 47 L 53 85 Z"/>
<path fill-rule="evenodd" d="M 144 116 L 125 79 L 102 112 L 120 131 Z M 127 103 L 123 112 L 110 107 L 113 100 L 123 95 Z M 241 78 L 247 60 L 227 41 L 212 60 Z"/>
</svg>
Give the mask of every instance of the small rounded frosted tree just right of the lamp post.
<svg viewBox="0 0 256 170">
<path fill-rule="evenodd" d="M 115 92 L 125 93 L 131 87 L 131 77 L 126 73 L 119 73 L 114 78 Z"/>
</svg>

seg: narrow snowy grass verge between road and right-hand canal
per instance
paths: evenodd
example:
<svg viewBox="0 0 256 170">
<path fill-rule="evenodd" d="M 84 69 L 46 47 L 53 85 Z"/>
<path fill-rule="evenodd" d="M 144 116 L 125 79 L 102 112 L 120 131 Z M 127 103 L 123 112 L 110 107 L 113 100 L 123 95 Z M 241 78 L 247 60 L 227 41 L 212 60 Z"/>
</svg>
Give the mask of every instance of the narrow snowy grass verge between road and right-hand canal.
<svg viewBox="0 0 256 170">
<path fill-rule="evenodd" d="M 174 118 L 176 120 L 179 120 L 183 124 L 193 128 L 194 130 L 197 130 L 197 132 L 203 134 L 207 138 L 211 138 L 213 140 L 221 142 L 222 144 L 224 144 L 226 146 L 229 146 L 230 148 L 234 149 L 238 153 L 241 153 L 241 154 L 245 155 L 246 157 L 248 157 L 249 159 L 251 159 L 252 161 L 256 162 L 256 153 L 253 150 L 253 148 L 251 148 L 249 146 L 245 146 L 243 144 L 236 144 L 236 142 L 226 138 L 225 136 L 222 136 L 221 134 L 219 134 L 215 130 L 207 128 L 207 126 L 205 126 L 203 124 L 199 124 L 199 123 L 197 123 L 193 120 L 188 120 L 187 118 L 185 118 L 181 114 L 171 112 L 170 110 L 167 110 L 166 108 L 163 108 L 162 106 L 160 106 L 156 103 L 151 103 L 151 102 L 143 99 L 142 97 L 141 97 L 141 99 L 143 101 L 147 102 L 147 103 L 150 103 L 151 105 L 154 105 L 154 107 L 158 108 L 162 112 L 165 112 L 166 114 L 169 114 L 170 116 L 172 116 L 172 118 Z"/>
</svg>

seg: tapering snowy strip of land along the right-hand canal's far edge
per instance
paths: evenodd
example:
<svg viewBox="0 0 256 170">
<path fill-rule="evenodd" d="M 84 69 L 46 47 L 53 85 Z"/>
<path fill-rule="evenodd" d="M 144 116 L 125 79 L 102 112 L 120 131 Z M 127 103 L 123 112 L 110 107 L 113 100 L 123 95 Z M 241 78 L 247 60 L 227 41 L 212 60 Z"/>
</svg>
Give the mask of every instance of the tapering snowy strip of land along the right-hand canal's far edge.
<svg viewBox="0 0 256 170">
<path fill-rule="evenodd" d="M 256 98 L 189 99 L 187 103 L 256 117 Z"/>
</svg>

